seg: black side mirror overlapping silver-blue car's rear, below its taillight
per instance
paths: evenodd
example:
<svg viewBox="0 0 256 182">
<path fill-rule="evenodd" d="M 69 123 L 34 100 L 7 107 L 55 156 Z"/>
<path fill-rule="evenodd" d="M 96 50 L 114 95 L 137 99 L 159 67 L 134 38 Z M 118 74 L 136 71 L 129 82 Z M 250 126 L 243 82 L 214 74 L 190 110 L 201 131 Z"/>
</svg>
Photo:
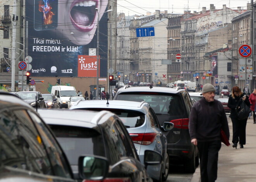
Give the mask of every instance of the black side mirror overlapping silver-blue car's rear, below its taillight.
<svg viewBox="0 0 256 182">
<path fill-rule="evenodd" d="M 144 165 L 147 169 L 148 165 L 159 165 L 163 161 L 162 155 L 153 150 L 145 150 L 144 152 Z"/>
</svg>

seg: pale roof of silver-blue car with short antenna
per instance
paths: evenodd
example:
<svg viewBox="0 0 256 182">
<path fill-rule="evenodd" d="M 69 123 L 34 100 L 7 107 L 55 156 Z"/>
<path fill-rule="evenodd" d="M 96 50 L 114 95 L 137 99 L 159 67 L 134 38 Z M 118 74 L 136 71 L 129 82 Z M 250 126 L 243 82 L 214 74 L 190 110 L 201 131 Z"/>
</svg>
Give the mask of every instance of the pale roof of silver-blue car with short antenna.
<svg viewBox="0 0 256 182">
<path fill-rule="evenodd" d="M 143 107 L 149 107 L 147 102 L 134 102 L 126 100 L 80 100 L 77 101 L 71 109 L 82 109 L 82 108 L 111 108 L 111 109 L 130 109 L 137 111 L 144 111 Z"/>
</svg>

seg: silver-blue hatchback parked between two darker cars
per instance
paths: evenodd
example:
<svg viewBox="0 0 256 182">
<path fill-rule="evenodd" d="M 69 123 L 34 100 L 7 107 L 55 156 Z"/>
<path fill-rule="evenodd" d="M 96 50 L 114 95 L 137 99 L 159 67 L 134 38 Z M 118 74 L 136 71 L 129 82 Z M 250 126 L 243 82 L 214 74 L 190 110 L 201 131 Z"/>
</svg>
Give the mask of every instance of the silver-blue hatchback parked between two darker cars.
<svg viewBox="0 0 256 182">
<path fill-rule="evenodd" d="M 147 168 L 149 176 L 156 181 L 166 181 L 169 174 L 169 156 L 167 153 L 167 139 L 163 133 L 173 129 L 173 123 L 164 122 L 160 126 L 156 114 L 146 102 L 131 102 L 123 100 L 80 101 L 70 109 L 85 111 L 110 111 L 115 113 L 126 126 L 131 139 L 137 149 L 140 161 L 144 162 L 146 150 L 161 153 L 164 161 L 158 166 Z"/>
</svg>

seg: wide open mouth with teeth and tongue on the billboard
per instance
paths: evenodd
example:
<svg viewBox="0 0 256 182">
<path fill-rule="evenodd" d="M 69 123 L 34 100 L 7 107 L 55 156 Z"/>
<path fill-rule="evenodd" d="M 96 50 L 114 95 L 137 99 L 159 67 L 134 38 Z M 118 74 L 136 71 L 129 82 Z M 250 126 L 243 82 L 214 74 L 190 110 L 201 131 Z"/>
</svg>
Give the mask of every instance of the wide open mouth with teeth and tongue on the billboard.
<svg viewBox="0 0 256 182">
<path fill-rule="evenodd" d="M 92 25 L 96 10 L 95 1 L 83 1 L 76 3 L 70 10 L 71 18 L 80 29 L 86 29 Z"/>
</svg>

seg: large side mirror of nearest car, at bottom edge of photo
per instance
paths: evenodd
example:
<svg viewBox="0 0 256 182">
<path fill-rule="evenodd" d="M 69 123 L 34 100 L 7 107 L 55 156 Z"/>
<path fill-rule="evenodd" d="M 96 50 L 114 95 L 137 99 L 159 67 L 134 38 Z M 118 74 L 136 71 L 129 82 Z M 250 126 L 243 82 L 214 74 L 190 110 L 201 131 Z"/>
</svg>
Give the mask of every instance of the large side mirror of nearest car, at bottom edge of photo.
<svg viewBox="0 0 256 182">
<path fill-rule="evenodd" d="M 109 162 L 102 156 L 86 155 L 78 159 L 78 172 L 81 179 L 102 180 L 109 171 Z"/>
</svg>

